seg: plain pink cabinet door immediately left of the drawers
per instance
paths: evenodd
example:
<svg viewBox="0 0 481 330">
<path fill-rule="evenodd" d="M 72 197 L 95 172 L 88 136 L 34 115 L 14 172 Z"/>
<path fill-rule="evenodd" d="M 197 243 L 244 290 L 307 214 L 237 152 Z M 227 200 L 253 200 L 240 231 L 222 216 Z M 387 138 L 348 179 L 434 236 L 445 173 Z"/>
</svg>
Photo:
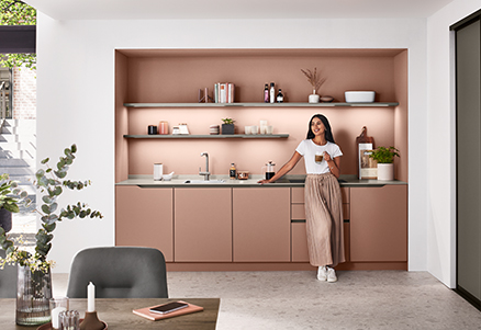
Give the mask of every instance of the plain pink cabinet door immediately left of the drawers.
<svg viewBox="0 0 481 330">
<path fill-rule="evenodd" d="M 290 187 L 233 189 L 234 262 L 290 262 Z"/>
</svg>

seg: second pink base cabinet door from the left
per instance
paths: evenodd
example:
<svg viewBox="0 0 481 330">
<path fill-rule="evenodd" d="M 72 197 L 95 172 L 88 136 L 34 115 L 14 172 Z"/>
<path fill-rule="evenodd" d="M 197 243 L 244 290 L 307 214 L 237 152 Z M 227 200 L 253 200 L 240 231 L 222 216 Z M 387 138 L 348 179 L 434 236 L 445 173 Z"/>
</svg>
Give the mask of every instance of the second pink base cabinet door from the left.
<svg viewBox="0 0 481 330">
<path fill-rule="evenodd" d="M 175 261 L 232 262 L 232 189 L 175 189 Z"/>
</svg>

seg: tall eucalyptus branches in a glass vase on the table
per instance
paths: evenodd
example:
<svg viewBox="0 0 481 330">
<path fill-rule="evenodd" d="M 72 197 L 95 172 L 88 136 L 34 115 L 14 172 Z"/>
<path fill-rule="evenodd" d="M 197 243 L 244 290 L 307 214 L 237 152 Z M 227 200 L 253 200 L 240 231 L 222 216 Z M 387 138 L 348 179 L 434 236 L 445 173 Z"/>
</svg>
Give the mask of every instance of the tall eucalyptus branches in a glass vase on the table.
<svg viewBox="0 0 481 330">
<path fill-rule="evenodd" d="M 48 300 L 52 297 L 51 268 L 54 262 L 47 259 L 52 248 L 52 239 L 57 223 L 66 219 L 102 218 L 102 214 L 92 210 L 85 203 L 58 207 L 58 197 L 65 189 L 82 190 L 90 185 L 90 181 L 71 181 L 66 179 L 69 167 L 75 159 L 77 146 L 64 150 L 65 156 L 59 158 L 55 168 L 49 167 L 49 159 L 42 160 L 46 169 L 35 173 L 34 184 L 42 197 L 35 209 L 41 215 L 42 226 L 35 235 L 35 251 L 27 251 L 15 246 L 18 241 L 10 240 L 5 230 L 0 228 L 0 246 L 5 250 L 5 258 L 0 258 L 0 266 L 5 263 L 18 265 L 16 287 L 16 323 L 22 326 L 36 326 L 51 320 Z M 25 196 L 20 193 L 20 197 Z M 29 203 L 29 201 L 24 201 Z M 7 203 L 10 206 L 14 203 Z M 21 242 L 20 242 L 21 243 Z"/>
</svg>

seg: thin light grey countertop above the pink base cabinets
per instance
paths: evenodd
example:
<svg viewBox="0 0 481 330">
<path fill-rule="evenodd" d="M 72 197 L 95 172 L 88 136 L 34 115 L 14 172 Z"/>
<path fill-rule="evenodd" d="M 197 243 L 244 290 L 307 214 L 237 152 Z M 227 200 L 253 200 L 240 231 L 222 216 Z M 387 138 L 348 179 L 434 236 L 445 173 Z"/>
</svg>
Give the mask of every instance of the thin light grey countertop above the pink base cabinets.
<svg viewBox="0 0 481 330">
<path fill-rule="evenodd" d="M 231 180 L 228 175 L 211 175 L 211 180 L 224 180 L 224 183 L 184 183 L 187 180 L 203 180 L 203 177 L 199 174 L 181 174 L 174 175 L 170 181 L 154 181 L 153 175 L 128 175 L 125 181 L 118 182 L 116 185 L 137 185 L 143 187 L 209 187 L 209 186 L 226 186 L 226 187 L 243 187 L 243 186 L 304 186 L 305 175 L 284 175 L 275 183 L 259 184 L 257 181 L 264 179 L 261 174 L 250 175 L 247 180 Z M 407 182 L 393 180 L 359 180 L 356 175 L 340 175 L 340 186 L 384 186 L 392 184 L 407 184 Z"/>
</svg>

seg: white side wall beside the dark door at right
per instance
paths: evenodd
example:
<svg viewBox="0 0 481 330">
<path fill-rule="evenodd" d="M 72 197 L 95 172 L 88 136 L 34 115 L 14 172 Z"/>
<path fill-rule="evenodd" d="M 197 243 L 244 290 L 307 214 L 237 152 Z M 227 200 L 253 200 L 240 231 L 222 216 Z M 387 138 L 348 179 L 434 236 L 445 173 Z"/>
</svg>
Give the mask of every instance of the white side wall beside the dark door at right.
<svg viewBox="0 0 481 330">
<path fill-rule="evenodd" d="M 449 287 L 456 286 L 456 109 L 449 26 L 479 9 L 479 0 L 457 0 L 427 20 L 427 269 Z"/>
</svg>

